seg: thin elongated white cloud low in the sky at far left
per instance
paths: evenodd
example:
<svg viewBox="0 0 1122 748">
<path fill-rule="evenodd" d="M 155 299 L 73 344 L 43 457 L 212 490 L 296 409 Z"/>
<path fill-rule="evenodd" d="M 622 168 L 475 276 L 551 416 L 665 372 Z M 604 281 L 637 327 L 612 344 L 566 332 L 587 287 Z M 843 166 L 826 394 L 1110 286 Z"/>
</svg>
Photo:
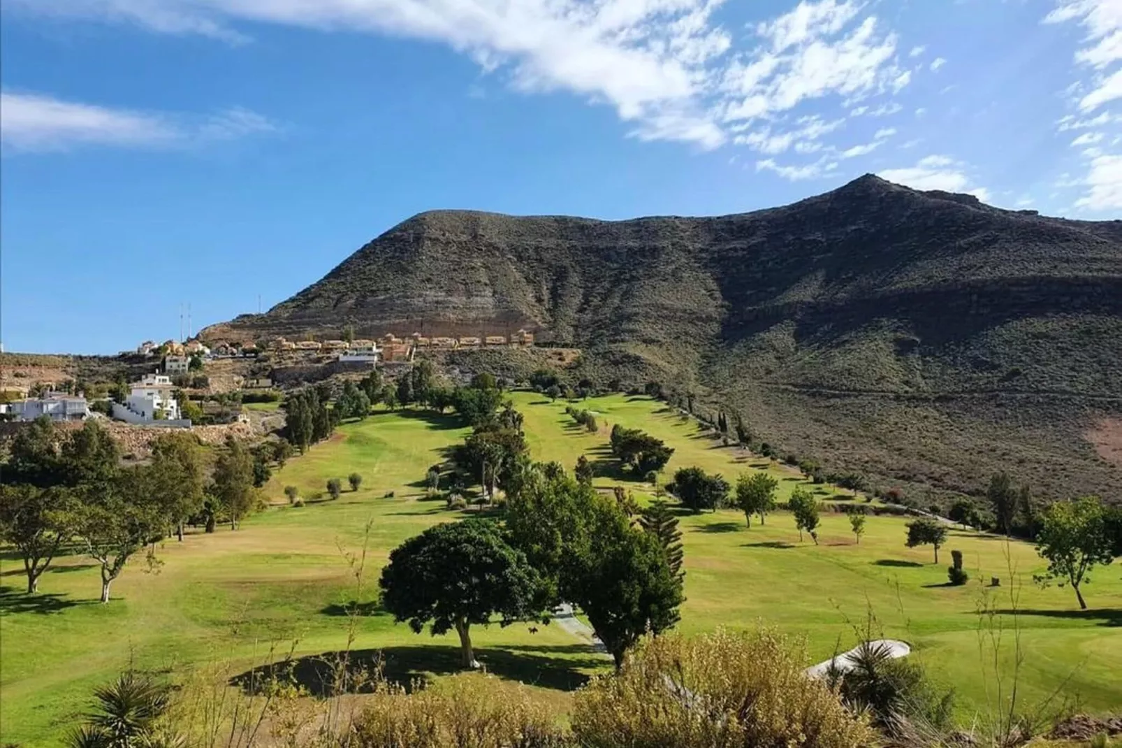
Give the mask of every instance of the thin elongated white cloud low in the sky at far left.
<svg viewBox="0 0 1122 748">
<path fill-rule="evenodd" d="M 248 109 L 229 109 L 192 124 L 160 112 L 112 109 L 38 93 L 0 93 L 0 139 L 11 152 L 80 146 L 178 147 L 275 129 Z"/>
</svg>

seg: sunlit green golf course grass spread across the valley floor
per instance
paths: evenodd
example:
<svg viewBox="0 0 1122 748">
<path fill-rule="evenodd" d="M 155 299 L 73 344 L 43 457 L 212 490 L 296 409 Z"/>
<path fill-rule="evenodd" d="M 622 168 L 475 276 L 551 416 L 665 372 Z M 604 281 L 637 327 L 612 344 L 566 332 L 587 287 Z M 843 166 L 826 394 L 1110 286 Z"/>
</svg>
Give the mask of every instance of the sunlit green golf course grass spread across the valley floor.
<svg viewBox="0 0 1122 748">
<path fill-rule="evenodd" d="M 526 418 L 531 447 L 539 458 L 570 466 L 582 453 L 603 456 L 607 431 L 589 435 L 569 425 L 563 403 L 517 393 Z M 697 464 L 733 478 L 760 464 L 754 458 L 697 432 L 691 421 L 661 410 L 645 399 L 622 396 L 588 401 L 606 425 L 638 426 L 668 439 L 677 451 L 668 474 Z M 44 595 L 34 606 L 18 593 L 18 563 L 3 562 L 0 596 L 0 739 L 26 745 L 57 745 L 71 715 L 85 709 L 93 685 L 112 676 L 130 658 L 138 665 L 169 666 L 201 659 L 232 658 L 239 667 L 260 662 L 270 641 L 284 648 L 298 638 L 300 654 L 341 647 L 346 619 L 331 614 L 332 605 L 355 596 L 339 547 L 361 546 L 362 527 L 373 520 L 368 592 L 389 549 L 427 524 L 451 517 L 442 504 L 419 501 L 414 484 L 441 458 L 441 449 L 462 437 L 450 419 L 379 413 L 362 423 L 346 425 L 328 444 L 293 459 L 269 484 L 268 494 L 282 500 L 286 484 L 302 493 L 322 491 L 329 477 L 346 478 L 357 471 L 365 482 L 357 493 L 338 502 L 300 509 L 270 509 L 246 522 L 238 532 L 188 537 L 182 546 L 167 542 L 159 574 L 146 574 L 131 564 L 114 586 L 119 598 L 108 606 L 91 602 L 98 592 L 96 569 L 82 557 L 66 558 L 40 584 Z M 606 466 L 607 467 L 607 466 Z M 791 478 L 780 468 L 776 474 Z M 607 487 L 609 476 L 597 478 Z M 797 480 L 784 480 L 789 493 Z M 636 494 L 647 487 L 631 484 Z M 384 499 L 386 491 L 396 492 Z M 842 516 L 826 514 L 822 545 L 798 542 L 790 516 L 778 513 L 767 526 L 744 527 L 733 511 L 682 518 L 687 558 L 687 596 L 681 628 L 710 629 L 718 624 L 751 626 L 757 618 L 808 636 L 810 656 L 821 659 L 840 637 L 848 647 L 848 620 L 865 618 L 866 600 L 889 636 L 917 646 L 935 672 L 954 683 L 965 699 L 983 700 L 976 617 L 980 587 L 949 589 L 945 564 L 931 564 L 931 549 L 903 546 L 903 521 L 871 518 L 861 545 L 852 542 Z M 975 580 L 1003 577 L 1004 554 L 1029 580 L 1040 568 L 1023 544 L 953 533 L 949 549 L 959 548 Z M 885 565 L 888 562 L 890 565 Z M 901 565 L 903 564 L 903 565 Z M 1022 688 L 1030 697 L 1070 677 L 1068 692 L 1078 693 L 1094 709 L 1122 702 L 1122 684 L 1111 673 L 1122 672 L 1122 580 L 1119 565 L 1095 575 L 1087 587 L 1087 614 L 1078 614 L 1067 590 L 1021 589 L 1021 608 L 1037 611 L 1022 617 L 1022 642 L 1031 658 Z M 999 601 L 1000 606 L 1008 606 Z M 543 697 L 564 703 L 564 691 L 597 666 L 587 648 L 557 627 L 530 633 L 525 627 L 493 628 L 473 635 L 480 659 L 493 672 L 535 682 Z M 1008 642 L 1006 635 L 1006 642 Z M 447 672 L 454 642 L 414 636 L 385 615 L 365 618 L 357 647 L 386 648 L 401 668 Z M 454 660 L 453 660 L 454 662 Z"/>
</svg>

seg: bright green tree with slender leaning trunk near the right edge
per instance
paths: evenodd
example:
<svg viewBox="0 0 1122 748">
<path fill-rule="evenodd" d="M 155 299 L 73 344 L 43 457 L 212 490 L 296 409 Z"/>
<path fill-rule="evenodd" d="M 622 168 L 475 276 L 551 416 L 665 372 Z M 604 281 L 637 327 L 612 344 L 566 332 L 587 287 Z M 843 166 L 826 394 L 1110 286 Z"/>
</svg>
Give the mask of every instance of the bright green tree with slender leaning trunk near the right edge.
<svg viewBox="0 0 1122 748">
<path fill-rule="evenodd" d="M 1087 609 L 1079 586 L 1089 582 L 1087 573 L 1096 564 L 1107 566 L 1114 549 L 1107 533 L 1106 511 L 1097 496 L 1057 501 L 1042 514 L 1037 553 L 1048 562 L 1045 580 L 1070 584 L 1082 610 Z"/>
</svg>

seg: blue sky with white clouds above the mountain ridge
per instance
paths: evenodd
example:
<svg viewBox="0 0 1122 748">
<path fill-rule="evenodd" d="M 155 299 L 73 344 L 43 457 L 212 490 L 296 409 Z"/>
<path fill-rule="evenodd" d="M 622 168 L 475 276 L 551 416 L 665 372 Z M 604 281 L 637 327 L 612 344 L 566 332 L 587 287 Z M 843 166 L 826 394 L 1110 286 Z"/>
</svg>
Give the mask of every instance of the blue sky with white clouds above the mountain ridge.
<svg viewBox="0 0 1122 748">
<path fill-rule="evenodd" d="M 422 210 L 747 211 L 866 172 L 1122 216 L 1122 0 L 4 0 L 0 335 L 112 353 Z"/>
</svg>

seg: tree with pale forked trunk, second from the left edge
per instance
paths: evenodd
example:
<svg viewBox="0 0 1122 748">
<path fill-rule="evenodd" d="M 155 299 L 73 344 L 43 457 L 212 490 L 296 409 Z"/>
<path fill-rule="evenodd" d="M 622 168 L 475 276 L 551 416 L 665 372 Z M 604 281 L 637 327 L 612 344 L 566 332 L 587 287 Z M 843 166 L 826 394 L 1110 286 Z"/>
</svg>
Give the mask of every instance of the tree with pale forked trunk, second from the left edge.
<svg viewBox="0 0 1122 748">
<path fill-rule="evenodd" d="M 126 562 L 163 537 L 167 518 L 159 505 L 160 481 L 150 466 L 122 471 L 108 485 L 79 489 L 76 535 L 101 566 L 101 602 Z"/>
</svg>

